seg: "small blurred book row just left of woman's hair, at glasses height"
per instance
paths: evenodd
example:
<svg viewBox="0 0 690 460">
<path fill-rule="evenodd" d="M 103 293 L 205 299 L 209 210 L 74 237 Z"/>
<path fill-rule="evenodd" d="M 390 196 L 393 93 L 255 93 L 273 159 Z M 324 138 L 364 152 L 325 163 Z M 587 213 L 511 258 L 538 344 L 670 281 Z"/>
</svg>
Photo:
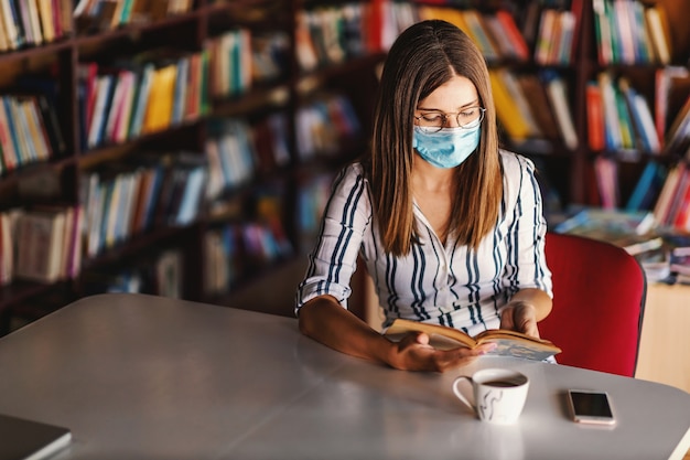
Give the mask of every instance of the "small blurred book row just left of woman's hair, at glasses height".
<svg viewBox="0 0 690 460">
<path fill-rule="evenodd" d="M 320 96 L 300 107 L 295 131 L 302 160 L 342 152 L 344 141 L 356 140 L 363 132 L 352 103 L 342 95 Z"/>
</svg>

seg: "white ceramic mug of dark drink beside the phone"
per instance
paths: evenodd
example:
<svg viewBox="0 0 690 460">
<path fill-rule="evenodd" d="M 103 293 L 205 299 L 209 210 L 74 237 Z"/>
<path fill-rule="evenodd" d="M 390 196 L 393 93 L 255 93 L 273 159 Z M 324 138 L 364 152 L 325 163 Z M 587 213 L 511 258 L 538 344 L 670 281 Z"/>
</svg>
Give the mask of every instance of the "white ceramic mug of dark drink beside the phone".
<svg viewBox="0 0 690 460">
<path fill-rule="evenodd" d="M 460 391 L 460 384 L 472 385 L 473 398 Z M 514 424 L 525 406 L 529 378 L 525 374 L 507 368 L 485 368 L 471 377 L 463 375 L 453 382 L 453 393 L 471 407 L 483 421 Z M 474 399 L 474 400 L 471 400 Z"/>
</svg>

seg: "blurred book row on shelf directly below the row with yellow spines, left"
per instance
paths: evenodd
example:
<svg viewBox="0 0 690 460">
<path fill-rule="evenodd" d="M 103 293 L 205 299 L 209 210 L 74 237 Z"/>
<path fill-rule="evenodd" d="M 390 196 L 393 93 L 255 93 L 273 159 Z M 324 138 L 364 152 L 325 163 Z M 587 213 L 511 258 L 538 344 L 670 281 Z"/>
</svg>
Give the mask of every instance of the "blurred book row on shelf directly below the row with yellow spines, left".
<svg viewBox="0 0 690 460">
<path fill-rule="evenodd" d="M 85 254 L 96 256 L 157 225 L 185 226 L 203 210 L 208 164 L 202 153 L 140 152 L 82 178 Z"/>
</svg>

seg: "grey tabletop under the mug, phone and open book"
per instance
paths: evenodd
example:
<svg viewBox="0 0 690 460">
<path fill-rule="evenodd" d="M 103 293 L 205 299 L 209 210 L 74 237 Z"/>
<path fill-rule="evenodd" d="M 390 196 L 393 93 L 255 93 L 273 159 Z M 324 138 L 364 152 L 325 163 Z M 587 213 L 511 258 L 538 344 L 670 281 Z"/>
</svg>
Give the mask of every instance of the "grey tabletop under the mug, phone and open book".
<svg viewBox="0 0 690 460">
<path fill-rule="evenodd" d="M 457 375 L 485 366 L 530 376 L 519 425 L 486 426 L 453 396 Z M 569 387 L 607 391 L 617 426 L 570 421 Z M 670 386 L 500 357 L 400 372 L 293 319 L 137 295 L 86 298 L 0 339 L 0 413 L 69 427 L 57 459 L 654 460 L 690 447 L 690 395 Z"/>
</svg>

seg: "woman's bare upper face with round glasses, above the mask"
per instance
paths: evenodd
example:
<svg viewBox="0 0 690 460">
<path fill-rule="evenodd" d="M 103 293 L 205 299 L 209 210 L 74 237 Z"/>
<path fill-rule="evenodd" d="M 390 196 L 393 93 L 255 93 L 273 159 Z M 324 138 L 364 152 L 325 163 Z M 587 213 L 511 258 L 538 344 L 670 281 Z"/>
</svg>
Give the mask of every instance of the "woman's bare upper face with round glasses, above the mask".
<svg viewBox="0 0 690 460">
<path fill-rule="evenodd" d="M 471 122 L 477 114 L 473 109 L 478 107 L 479 98 L 474 84 L 455 75 L 419 101 L 414 110 L 416 124 L 442 122 L 443 128 L 455 128 Z"/>
</svg>

